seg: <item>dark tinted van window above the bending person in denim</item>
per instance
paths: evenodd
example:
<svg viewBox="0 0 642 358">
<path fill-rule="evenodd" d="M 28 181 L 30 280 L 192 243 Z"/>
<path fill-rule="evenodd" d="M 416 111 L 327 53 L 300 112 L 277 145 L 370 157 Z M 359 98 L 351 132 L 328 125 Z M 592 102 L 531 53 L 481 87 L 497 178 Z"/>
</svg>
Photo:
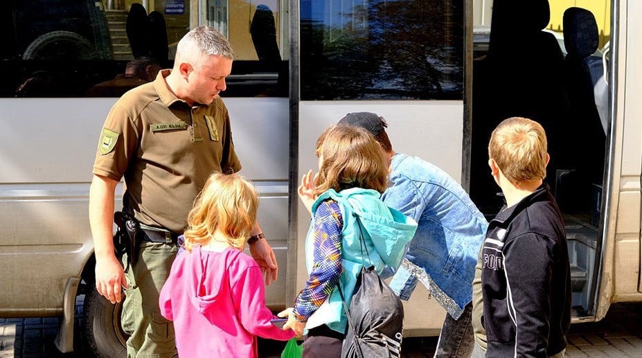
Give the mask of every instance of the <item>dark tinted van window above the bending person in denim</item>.
<svg viewBox="0 0 642 358">
<path fill-rule="evenodd" d="M 461 100 L 463 23 L 463 0 L 302 0 L 301 98 Z"/>
</svg>

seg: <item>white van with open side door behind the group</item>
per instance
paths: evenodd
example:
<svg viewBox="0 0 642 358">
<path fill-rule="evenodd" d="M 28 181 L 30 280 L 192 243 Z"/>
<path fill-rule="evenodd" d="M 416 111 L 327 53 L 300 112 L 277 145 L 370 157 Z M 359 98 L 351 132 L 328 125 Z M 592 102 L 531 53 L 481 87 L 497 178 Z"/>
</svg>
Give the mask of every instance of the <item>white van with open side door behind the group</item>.
<svg viewBox="0 0 642 358">
<path fill-rule="evenodd" d="M 514 0 L 495 0 L 494 10 L 503 1 Z M 0 48 L 0 317 L 62 317 L 56 340 L 62 352 L 74 348 L 78 294 L 85 295 L 82 336 L 93 352 L 99 357 L 125 352 L 120 305 L 98 296 L 93 284 L 88 217 L 98 135 L 116 98 L 85 95 L 121 75 L 134 59 L 125 31 L 133 2 L 12 2 L 0 14 L 5 30 Z M 489 1 L 482 2 L 490 9 Z M 215 26 L 231 39 L 236 59 L 223 98 L 242 174 L 260 191 L 259 221 L 279 262 L 278 280 L 267 289 L 272 309 L 292 305 L 307 278 L 303 241 L 310 217 L 296 198 L 299 174 L 316 168 L 316 136 L 349 111 L 384 116 L 396 150 L 443 168 L 471 189 L 485 214 L 493 214 L 492 203 L 483 196 L 476 199 L 476 185 L 488 179 L 487 170 L 475 169 L 483 168 L 475 165 L 488 139 L 478 116 L 508 107 L 501 101 L 508 102 L 519 87 L 476 87 L 492 84 L 497 75 L 484 72 L 489 62 L 482 62 L 483 46 L 476 52 L 482 56 L 473 57 L 471 25 L 494 30 L 490 22 L 473 21 L 473 10 L 484 8 L 479 1 L 448 0 L 447 6 L 422 0 L 274 0 L 261 7 L 240 0 L 143 3 L 148 12 L 165 17 L 170 48 L 199 24 Z M 559 167 L 550 178 L 560 181 L 560 200 L 569 205 L 564 214 L 573 265 L 573 322 L 602 319 L 612 302 L 642 301 L 642 42 L 633 40 L 642 32 L 635 18 L 642 3 L 601 4 L 613 14 L 610 61 L 605 62 L 605 144 L 570 136 L 565 140 L 571 145 L 564 143 L 552 154 L 569 159 L 569 167 Z M 66 6 L 75 10 L 60 11 Z M 64 14 L 75 14 L 75 20 Z M 251 25 L 266 19 L 274 33 L 259 44 Z M 492 39 L 491 32 L 488 51 Z M 169 52 L 165 66 L 171 64 Z M 491 81 L 483 82 L 482 74 Z M 480 107 L 475 100 L 483 95 L 494 96 L 488 103 L 499 105 Z M 573 165 L 585 158 L 576 148 L 591 144 L 598 149 L 592 169 L 602 179 L 591 186 L 569 181 Z M 582 182 L 582 190 L 574 190 L 576 182 Z M 438 334 L 445 311 L 425 289 L 413 294 L 405 310 L 405 334 Z"/>
</svg>

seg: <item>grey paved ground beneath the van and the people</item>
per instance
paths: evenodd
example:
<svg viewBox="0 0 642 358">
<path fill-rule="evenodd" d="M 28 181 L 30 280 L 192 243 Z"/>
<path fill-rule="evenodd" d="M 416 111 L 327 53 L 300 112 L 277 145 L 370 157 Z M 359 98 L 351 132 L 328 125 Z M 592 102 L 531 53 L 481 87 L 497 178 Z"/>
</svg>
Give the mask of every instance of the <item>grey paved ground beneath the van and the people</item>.
<svg viewBox="0 0 642 358">
<path fill-rule="evenodd" d="M 76 321 L 79 328 L 80 316 Z M 58 325 L 57 318 L 0 319 L 0 358 L 91 357 L 78 334 L 77 352 L 58 352 L 53 343 Z M 566 357 L 642 358 L 642 303 L 614 303 L 602 321 L 572 325 L 568 339 Z M 403 356 L 432 357 L 436 343 L 437 337 L 404 339 Z M 260 357 L 280 357 L 283 343 L 260 340 L 259 347 Z"/>
</svg>

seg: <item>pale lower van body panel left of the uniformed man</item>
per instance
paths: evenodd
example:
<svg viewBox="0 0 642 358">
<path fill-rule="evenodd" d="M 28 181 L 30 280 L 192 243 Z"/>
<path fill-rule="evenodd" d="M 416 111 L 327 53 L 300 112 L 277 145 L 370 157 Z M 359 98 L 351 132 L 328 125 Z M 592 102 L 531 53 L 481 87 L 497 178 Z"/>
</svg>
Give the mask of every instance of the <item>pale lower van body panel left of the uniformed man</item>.
<svg viewBox="0 0 642 358">
<path fill-rule="evenodd" d="M 0 99 L 0 315 L 62 313 L 93 251 L 87 201 L 113 100 Z"/>
</svg>

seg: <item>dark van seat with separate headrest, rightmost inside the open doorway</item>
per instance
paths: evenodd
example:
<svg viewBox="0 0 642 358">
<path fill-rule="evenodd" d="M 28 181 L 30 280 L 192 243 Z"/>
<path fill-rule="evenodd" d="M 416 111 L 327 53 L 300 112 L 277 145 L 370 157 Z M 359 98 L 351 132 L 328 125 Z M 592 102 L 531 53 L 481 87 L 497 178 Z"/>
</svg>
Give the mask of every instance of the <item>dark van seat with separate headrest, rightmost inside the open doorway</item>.
<svg viewBox="0 0 642 358">
<path fill-rule="evenodd" d="M 603 63 L 594 55 L 599 44 L 594 15 L 573 7 L 564 11 L 562 21 L 567 56 L 563 72 L 566 108 L 560 129 L 567 140 L 558 164 L 574 172 L 560 181 L 558 202 L 570 211 L 587 211 L 592 187 L 603 180 L 606 135 L 598 105 L 608 106 L 608 87 L 596 91 L 603 81 Z"/>
</svg>

